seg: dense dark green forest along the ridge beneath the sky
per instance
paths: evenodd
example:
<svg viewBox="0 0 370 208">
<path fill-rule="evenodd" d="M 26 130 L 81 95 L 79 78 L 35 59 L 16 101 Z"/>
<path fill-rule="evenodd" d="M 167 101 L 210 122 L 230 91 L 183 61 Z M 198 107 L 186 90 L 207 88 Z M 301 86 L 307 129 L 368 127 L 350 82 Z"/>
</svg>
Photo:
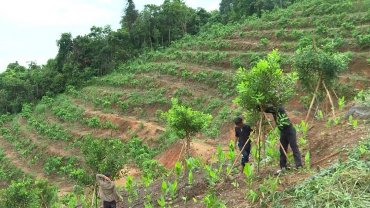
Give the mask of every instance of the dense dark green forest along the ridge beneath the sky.
<svg viewBox="0 0 370 208">
<path fill-rule="evenodd" d="M 67 86 L 82 87 L 92 77 L 115 71 L 120 64 L 145 51 L 168 47 L 185 35 L 200 35 L 222 24 L 243 22 L 253 14 L 286 7 L 292 0 L 222 0 L 219 10 L 206 11 L 186 6 L 183 0 L 147 4 L 142 11 L 133 0 L 124 1 L 122 28 L 92 26 L 90 33 L 73 37 L 62 33 L 56 41 L 55 58 L 45 65 L 10 63 L 0 74 L 0 112 L 19 113 L 22 104 L 45 95 L 63 93 Z M 118 20 L 117 20 L 118 21 Z"/>
</svg>

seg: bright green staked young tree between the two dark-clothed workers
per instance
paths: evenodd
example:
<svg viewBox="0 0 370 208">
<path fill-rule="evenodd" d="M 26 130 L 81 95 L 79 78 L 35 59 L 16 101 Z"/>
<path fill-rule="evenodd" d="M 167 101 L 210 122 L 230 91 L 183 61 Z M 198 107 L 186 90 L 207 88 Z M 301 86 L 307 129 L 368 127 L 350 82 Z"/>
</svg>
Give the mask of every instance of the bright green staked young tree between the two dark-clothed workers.
<svg viewBox="0 0 370 208">
<path fill-rule="evenodd" d="M 255 154 L 258 161 L 257 171 L 259 170 L 261 143 L 264 142 L 263 131 L 272 127 L 263 109 L 270 104 L 286 104 L 295 95 L 294 89 L 298 79 L 296 72 L 283 74 L 279 61 L 278 51 L 274 50 L 268 54 L 267 60 L 260 60 L 251 70 L 239 68 L 235 76 L 239 84 L 237 86 L 238 97 L 235 98 L 234 103 L 247 110 L 246 120 L 251 126 L 255 126 L 255 131 L 258 132 L 257 149 L 259 153 L 257 154 L 256 151 Z M 257 106 L 262 109 L 261 112 L 258 111 Z M 279 115 L 278 117 L 280 121 L 284 119 Z M 257 125 L 258 122 L 259 125 Z M 285 151 L 284 154 L 286 154 Z"/>
</svg>

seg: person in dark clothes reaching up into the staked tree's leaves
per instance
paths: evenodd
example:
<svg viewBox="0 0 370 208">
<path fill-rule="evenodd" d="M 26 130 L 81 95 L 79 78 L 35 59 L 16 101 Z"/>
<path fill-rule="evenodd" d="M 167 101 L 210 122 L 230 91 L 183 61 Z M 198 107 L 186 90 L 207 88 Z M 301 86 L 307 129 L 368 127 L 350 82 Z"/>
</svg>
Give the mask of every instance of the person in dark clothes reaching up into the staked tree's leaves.
<svg viewBox="0 0 370 208">
<path fill-rule="evenodd" d="M 257 106 L 259 112 L 261 111 L 260 107 Z M 292 149 L 294 162 L 296 163 L 297 168 L 302 167 L 302 160 L 297 144 L 296 129 L 292 125 L 292 122 L 289 120 L 287 113 L 283 106 L 271 105 L 264 110 L 266 113 L 271 113 L 274 117 L 275 123 L 280 130 L 280 143 L 284 147 L 285 152 L 288 151 L 288 144 Z M 282 169 L 287 169 L 287 158 L 280 147 L 280 170 L 276 173 L 281 173 Z"/>
</svg>

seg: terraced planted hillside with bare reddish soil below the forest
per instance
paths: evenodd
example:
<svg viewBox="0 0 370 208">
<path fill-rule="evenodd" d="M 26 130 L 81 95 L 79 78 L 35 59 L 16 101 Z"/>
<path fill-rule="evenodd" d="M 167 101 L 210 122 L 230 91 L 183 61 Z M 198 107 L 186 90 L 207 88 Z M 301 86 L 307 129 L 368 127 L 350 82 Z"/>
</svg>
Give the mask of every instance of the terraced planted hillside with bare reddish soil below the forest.
<svg viewBox="0 0 370 208">
<path fill-rule="evenodd" d="M 259 177 L 251 187 L 244 181 L 245 176 L 234 174 L 236 170 L 232 180 L 225 179 L 226 166 L 230 166 L 227 157 L 223 163 L 217 162 L 222 154 L 223 157 L 230 154 L 229 144 L 235 138 L 233 118 L 243 112 L 232 102 L 238 84 L 233 77 L 237 69 L 250 69 L 277 48 L 281 54 L 281 68 L 291 71 L 294 52 L 312 44 L 312 30 L 318 46 L 333 42 L 335 51 L 353 53 L 348 72 L 340 75 L 340 82 L 333 89 L 337 97 L 345 96 L 345 106 L 335 111 L 337 117 L 344 116 L 352 105 L 360 103 L 359 99 L 354 101 L 358 93 L 355 89 L 364 89 L 367 96 L 370 2 L 302 0 L 286 9 L 265 12 L 261 18 L 250 16 L 243 24 L 215 24 L 198 35 L 185 35 L 167 48 L 148 50 L 119 65 L 114 72 L 89 79 L 82 88 L 68 86 L 63 94 L 44 96 L 38 102 L 24 104 L 19 114 L 3 115 L 0 122 L 3 123 L 0 188 L 7 188 L 11 180 L 25 181 L 26 178 L 26 181 L 30 179 L 33 183 L 37 178 L 48 178 L 49 184 L 59 186 L 58 197 L 60 202 L 64 202 L 64 207 L 87 207 L 84 202 L 90 199 L 92 191 L 87 187 L 94 185 L 91 167 L 94 165 L 97 170 L 115 168 L 105 167 L 110 164 L 109 161 L 102 162 L 98 158 L 93 161 L 91 158 L 124 155 L 117 161 L 126 164 L 123 171 L 127 171 L 128 176 L 137 179 L 138 183 L 142 183 L 142 176 L 145 178 L 148 174 L 153 180 L 148 188 L 132 185 L 134 190 L 138 190 L 137 196 L 123 188 L 127 181 L 125 177 L 115 181 L 123 197 L 122 205 L 127 207 L 130 206 L 129 196 L 131 206 L 144 207 L 144 203 L 151 201 L 153 207 L 160 207 L 157 199 L 161 198 L 162 180 L 154 181 L 160 176 L 166 182 L 177 181 L 177 198 L 166 198 L 171 207 L 204 207 L 200 203 L 202 200 L 209 200 L 206 204 L 211 207 L 210 204 L 218 199 L 224 200 L 223 204 L 230 208 L 258 207 L 259 203 L 266 207 L 281 207 L 281 204 L 288 207 L 313 204 L 324 207 L 325 199 L 306 196 L 311 193 L 325 195 L 325 187 L 328 186 L 333 186 L 339 194 L 348 194 L 345 188 L 334 187 L 335 183 L 369 177 L 363 170 L 365 162 L 362 162 L 366 160 L 364 155 L 370 153 L 365 122 L 359 120 L 356 125 L 353 122 L 328 125 L 328 118 L 333 117 L 329 101 L 323 104 L 329 104 L 329 110 L 328 107 L 321 109 L 325 111 L 324 117 L 311 116 L 308 131 L 305 131 L 307 127 L 301 121 L 306 117 L 312 97 L 299 92 L 285 108 L 296 124 L 303 161 L 308 151 L 310 164 L 339 150 L 341 154 L 311 165 L 309 170 L 281 175 L 279 181 L 274 181 L 270 174 L 278 168 L 278 161 L 273 153 L 267 153 L 269 162 L 263 163 Z M 340 103 L 337 97 L 333 96 L 336 109 Z M 162 112 L 171 108 L 171 98 L 213 116 L 210 128 L 198 134 L 191 144 L 191 154 L 198 158 L 194 164 L 192 185 L 188 184 L 187 170 L 181 178 L 175 173 L 169 174 L 170 170 L 176 172 L 175 163 L 183 147 L 182 140 L 160 118 Z M 366 100 L 362 102 L 369 104 Z M 268 148 L 277 149 L 278 144 L 270 143 Z M 87 160 L 89 158 L 91 161 Z M 182 160 L 182 164 L 185 163 Z M 212 164 L 210 167 L 215 176 L 204 169 L 203 163 Z M 221 164 L 225 164 L 223 173 L 219 173 Z M 318 177 L 316 186 L 313 183 L 306 187 L 296 186 L 314 175 L 317 169 L 322 170 L 333 164 L 339 165 L 331 173 L 332 177 Z M 348 166 L 357 166 L 358 170 L 347 170 Z M 239 169 L 239 163 L 236 168 Z M 356 185 L 356 181 L 351 184 Z M 362 188 L 363 184 L 360 185 Z M 286 190 L 292 186 L 297 187 L 293 194 Z M 361 190 L 369 190 L 361 188 L 354 191 L 356 196 L 348 197 L 353 197 L 360 207 L 367 207 L 364 200 L 356 198 L 361 196 L 366 199 L 365 194 L 360 193 Z M 254 194 L 249 190 L 256 192 Z M 257 192 L 259 198 L 255 199 Z M 147 200 L 150 193 L 153 193 L 151 200 Z M 265 196 L 261 197 L 262 194 Z M 330 197 L 340 201 L 340 206 L 350 207 L 346 204 L 348 202 L 332 195 Z M 62 207 L 62 204 L 59 206 Z"/>
</svg>

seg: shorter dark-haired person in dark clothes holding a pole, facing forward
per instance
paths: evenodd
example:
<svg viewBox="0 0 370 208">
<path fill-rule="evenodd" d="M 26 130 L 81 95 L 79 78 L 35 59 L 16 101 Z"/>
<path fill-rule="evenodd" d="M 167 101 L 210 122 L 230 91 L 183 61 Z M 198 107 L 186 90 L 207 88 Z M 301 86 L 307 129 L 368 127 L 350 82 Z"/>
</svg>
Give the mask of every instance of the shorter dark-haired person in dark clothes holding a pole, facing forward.
<svg viewBox="0 0 370 208">
<path fill-rule="evenodd" d="M 243 119 L 240 117 L 237 117 L 235 119 L 235 149 L 236 149 L 236 142 L 238 141 L 238 147 L 239 150 L 242 151 L 242 169 L 240 171 L 240 174 L 243 174 L 244 166 L 249 161 L 249 153 L 251 152 L 251 140 L 248 141 L 247 145 L 245 145 L 244 149 L 242 150 L 245 142 L 247 142 L 249 135 L 252 132 L 251 126 L 248 124 L 243 123 Z"/>
</svg>

